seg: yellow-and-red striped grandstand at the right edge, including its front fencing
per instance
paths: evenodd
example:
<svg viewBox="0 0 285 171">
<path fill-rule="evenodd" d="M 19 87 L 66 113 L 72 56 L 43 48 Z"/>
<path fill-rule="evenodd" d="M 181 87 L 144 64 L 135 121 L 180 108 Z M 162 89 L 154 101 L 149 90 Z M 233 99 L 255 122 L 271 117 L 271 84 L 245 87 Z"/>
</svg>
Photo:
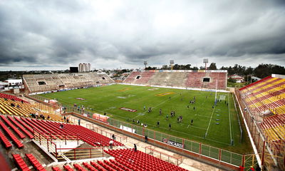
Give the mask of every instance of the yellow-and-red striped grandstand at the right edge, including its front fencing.
<svg viewBox="0 0 285 171">
<path fill-rule="evenodd" d="M 257 150 L 266 142 L 274 164 L 284 168 L 279 158 L 285 154 L 285 76 L 272 74 L 249 84 L 237 91 L 237 97 Z"/>
</svg>

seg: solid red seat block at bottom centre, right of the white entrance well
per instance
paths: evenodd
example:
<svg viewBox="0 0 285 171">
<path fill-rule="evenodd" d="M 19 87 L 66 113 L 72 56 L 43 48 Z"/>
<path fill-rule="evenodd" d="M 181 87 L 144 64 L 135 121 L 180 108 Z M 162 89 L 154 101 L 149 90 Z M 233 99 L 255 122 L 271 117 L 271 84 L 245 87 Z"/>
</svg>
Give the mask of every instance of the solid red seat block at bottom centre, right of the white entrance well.
<svg viewBox="0 0 285 171">
<path fill-rule="evenodd" d="M 185 170 L 170 162 L 147 155 L 145 152 L 135 152 L 133 149 L 105 150 L 105 152 L 115 157 L 116 162 L 128 167 L 130 170 Z"/>
</svg>

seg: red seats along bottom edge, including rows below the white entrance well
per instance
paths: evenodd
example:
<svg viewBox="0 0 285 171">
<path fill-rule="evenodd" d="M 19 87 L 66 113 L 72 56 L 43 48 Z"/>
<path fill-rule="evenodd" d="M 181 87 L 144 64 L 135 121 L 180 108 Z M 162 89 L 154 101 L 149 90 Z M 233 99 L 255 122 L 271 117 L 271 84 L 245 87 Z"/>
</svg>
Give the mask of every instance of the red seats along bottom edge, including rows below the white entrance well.
<svg viewBox="0 0 285 171">
<path fill-rule="evenodd" d="M 90 171 L 186 171 L 182 167 L 165 162 L 144 152 L 134 152 L 130 149 L 109 150 L 115 160 L 93 160 L 88 162 L 77 162 L 73 164 L 74 170 Z M 64 170 L 73 170 L 71 165 L 63 165 Z M 52 167 L 52 170 L 59 170 Z"/>
</svg>

